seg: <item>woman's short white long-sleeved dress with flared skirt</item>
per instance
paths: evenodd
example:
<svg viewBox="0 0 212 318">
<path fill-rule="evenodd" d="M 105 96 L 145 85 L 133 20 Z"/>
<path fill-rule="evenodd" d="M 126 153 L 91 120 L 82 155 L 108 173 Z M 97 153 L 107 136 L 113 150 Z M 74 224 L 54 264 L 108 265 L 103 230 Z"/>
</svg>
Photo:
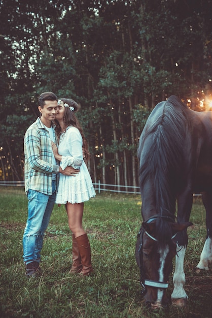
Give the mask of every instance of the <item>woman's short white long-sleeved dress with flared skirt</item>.
<svg viewBox="0 0 212 318">
<path fill-rule="evenodd" d="M 80 173 L 76 176 L 65 176 L 60 173 L 56 204 L 81 203 L 96 195 L 88 168 L 83 160 L 82 144 L 82 136 L 73 126 L 68 126 L 60 136 L 58 153 L 62 156 L 60 163 L 62 170 L 72 166 L 75 169 L 80 168 Z"/>
</svg>

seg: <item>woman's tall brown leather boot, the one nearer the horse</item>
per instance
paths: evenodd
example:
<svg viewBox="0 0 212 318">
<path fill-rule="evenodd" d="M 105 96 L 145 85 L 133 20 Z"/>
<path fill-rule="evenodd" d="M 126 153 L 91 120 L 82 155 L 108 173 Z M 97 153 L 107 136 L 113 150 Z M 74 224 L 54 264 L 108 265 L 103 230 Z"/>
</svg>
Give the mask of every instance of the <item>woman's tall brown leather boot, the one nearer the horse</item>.
<svg viewBox="0 0 212 318">
<path fill-rule="evenodd" d="M 88 240 L 87 234 L 83 234 L 81 236 L 76 237 L 78 248 L 80 251 L 81 262 L 83 269 L 80 272 L 80 275 L 89 276 L 93 271 L 91 265 L 91 247 Z"/>
</svg>

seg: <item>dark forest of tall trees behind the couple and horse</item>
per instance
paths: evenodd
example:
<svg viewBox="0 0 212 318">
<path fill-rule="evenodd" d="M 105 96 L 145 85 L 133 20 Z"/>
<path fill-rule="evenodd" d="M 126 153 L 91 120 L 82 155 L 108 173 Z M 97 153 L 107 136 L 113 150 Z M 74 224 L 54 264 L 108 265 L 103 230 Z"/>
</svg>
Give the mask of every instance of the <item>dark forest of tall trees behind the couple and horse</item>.
<svg viewBox="0 0 212 318">
<path fill-rule="evenodd" d="M 136 186 L 136 150 L 155 105 L 212 100 L 211 0 L 0 0 L 0 180 L 23 180 L 38 96 L 81 104 L 93 182 Z"/>
</svg>

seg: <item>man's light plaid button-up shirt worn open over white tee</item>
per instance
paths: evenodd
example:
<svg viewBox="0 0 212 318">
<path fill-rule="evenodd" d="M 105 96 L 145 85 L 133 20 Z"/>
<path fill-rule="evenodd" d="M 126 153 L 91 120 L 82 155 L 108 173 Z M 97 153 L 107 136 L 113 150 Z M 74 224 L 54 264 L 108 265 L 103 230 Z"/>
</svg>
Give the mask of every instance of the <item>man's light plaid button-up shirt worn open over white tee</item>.
<svg viewBox="0 0 212 318">
<path fill-rule="evenodd" d="M 52 123 L 55 129 L 54 123 Z M 57 138 L 54 131 L 55 144 Z M 45 129 L 40 117 L 27 129 L 24 136 L 24 182 L 25 192 L 36 190 L 52 195 L 52 173 L 59 179 L 59 164 L 52 164 L 52 146 L 49 132 Z"/>
</svg>

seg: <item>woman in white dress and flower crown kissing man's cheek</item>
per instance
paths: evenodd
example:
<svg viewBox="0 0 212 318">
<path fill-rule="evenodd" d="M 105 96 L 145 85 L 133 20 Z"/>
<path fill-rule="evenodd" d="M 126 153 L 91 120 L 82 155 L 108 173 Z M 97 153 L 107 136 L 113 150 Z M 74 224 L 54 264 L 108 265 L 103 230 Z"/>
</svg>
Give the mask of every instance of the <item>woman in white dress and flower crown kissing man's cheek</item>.
<svg viewBox="0 0 212 318">
<path fill-rule="evenodd" d="M 60 167 L 71 166 L 80 168 L 80 173 L 74 176 L 60 174 L 56 204 L 65 204 L 68 216 L 68 226 L 72 231 L 73 263 L 69 273 L 80 273 L 89 276 L 93 271 L 91 265 L 91 249 L 88 236 L 82 226 L 84 202 L 95 197 L 95 190 L 83 160 L 88 160 L 89 152 L 82 128 L 75 112 L 79 105 L 72 99 L 58 100 L 56 111 L 56 132 L 59 137 L 58 149 L 54 143 L 54 156 L 60 161 Z"/>
</svg>

